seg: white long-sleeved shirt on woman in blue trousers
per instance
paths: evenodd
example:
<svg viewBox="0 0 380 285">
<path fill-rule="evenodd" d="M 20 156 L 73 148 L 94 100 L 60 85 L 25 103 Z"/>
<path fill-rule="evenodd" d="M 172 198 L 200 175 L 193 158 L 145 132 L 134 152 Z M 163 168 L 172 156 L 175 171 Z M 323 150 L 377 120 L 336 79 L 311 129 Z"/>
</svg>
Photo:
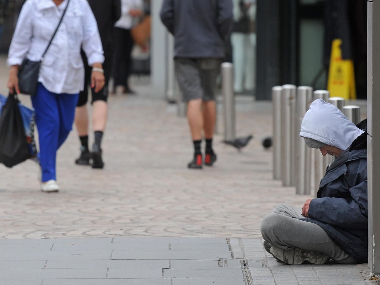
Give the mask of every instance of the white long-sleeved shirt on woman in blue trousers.
<svg viewBox="0 0 380 285">
<path fill-rule="evenodd" d="M 8 54 L 8 66 L 27 57 L 41 60 L 67 6 L 52 0 L 27 0 L 22 7 Z M 41 64 L 38 81 L 50 92 L 76 94 L 84 87 L 81 46 L 89 65 L 103 63 L 103 47 L 97 22 L 87 0 L 70 0 L 57 34 Z"/>
</svg>

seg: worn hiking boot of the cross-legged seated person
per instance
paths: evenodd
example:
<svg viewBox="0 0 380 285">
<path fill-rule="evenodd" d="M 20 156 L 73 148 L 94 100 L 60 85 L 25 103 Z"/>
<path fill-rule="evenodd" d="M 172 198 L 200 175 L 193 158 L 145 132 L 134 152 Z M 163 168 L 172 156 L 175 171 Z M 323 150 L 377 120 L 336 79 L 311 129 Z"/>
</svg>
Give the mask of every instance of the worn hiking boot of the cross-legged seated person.
<svg viewBox="0 0 380 285">
<path fill-rule="evenodd" d="M 279 247 L 272 246 L 271 254 L 275 259 L 282 261 L 286 264 L 302 264 L 308 261 L 312 264 L 324 264 L 330 258 L 321 252 L 311 252 L 294 247 L 293 249 L 280 249 Z"/>
</svg>

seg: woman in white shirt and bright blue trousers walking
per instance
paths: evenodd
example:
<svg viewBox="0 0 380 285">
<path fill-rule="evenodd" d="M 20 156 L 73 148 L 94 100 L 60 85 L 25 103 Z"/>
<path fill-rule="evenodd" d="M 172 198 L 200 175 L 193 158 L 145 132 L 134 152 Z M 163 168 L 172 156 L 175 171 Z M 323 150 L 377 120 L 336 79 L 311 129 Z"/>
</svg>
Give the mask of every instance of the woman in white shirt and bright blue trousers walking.
<svg viewBox="0 0 380 285">
<path fill-rule="evenodd" d="M 63 21 L 53 36 L 63 12 Z M 41 55 L 52 43 L 41 59 Z M 23 59 L 42 60 L 38 89 L 32 96 L 40 139 L 41 188 L 56 192 L 56 155 L 71 131 L 78 93 L 83 88 L 81 46 L 92 65 L 91 85 L 99 92 L 104 84 L 103 49 L 95 17 L 87 0 L 27 0 L 22 7 L 9 48 L 8 88 L 18 86 L 17 71 Z"/>
</svg>

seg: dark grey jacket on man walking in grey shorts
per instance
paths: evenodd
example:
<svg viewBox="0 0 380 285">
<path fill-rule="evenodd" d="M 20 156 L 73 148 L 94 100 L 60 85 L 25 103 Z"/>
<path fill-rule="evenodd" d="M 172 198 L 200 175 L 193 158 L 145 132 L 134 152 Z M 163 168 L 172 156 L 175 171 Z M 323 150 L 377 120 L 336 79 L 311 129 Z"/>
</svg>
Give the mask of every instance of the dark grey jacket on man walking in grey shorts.
<svg viewBox="0 0 380 285">
<path fill-rule="evenodd" d="M 174 35 L 174 57 L 225 57 L 233 27 L 231 0 L 164 0 L 161 20 Z"/>
</svg>

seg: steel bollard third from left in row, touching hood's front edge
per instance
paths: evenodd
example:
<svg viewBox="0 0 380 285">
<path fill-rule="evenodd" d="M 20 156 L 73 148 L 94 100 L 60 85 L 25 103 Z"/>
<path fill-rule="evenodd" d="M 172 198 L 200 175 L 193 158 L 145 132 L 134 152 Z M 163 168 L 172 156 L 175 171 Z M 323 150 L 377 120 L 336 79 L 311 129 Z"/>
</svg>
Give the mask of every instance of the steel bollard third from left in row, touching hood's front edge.
<svg viewBox="0 0 380 285">
<path fill-rule="evenodd" d="M 307 109 L 312 101 L 313 88 L 309 86 L 299 86 L 297 88 L 297 109 L 296 109 L 296 194 L 310 194 L 310 166 L 311 151 L 306 146 L 305 141 L 299 136 L 301 123 Z"/>
</svg>

